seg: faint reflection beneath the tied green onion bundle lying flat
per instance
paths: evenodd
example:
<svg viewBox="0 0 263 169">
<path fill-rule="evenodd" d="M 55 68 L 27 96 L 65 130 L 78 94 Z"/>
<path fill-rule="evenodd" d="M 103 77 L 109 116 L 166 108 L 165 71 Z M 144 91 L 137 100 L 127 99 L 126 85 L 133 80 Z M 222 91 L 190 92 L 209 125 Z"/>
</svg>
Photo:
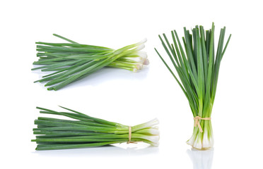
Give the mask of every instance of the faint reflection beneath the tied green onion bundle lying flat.
<svg viewBox="0 0 263 169">
<path fill-rule="evenodd" d="M 81 157 L 98 157 L 98 156 L 142 156 L 147 154 L 158 153 L 158 147 L 144 145 L 122 145 L 117 146 L 100 146 L 86 149 L 64 149 L 64 150 L 47 150 L 35 151 L 34 154 L 39 156 L 81 156 Z"/>
</svg>

